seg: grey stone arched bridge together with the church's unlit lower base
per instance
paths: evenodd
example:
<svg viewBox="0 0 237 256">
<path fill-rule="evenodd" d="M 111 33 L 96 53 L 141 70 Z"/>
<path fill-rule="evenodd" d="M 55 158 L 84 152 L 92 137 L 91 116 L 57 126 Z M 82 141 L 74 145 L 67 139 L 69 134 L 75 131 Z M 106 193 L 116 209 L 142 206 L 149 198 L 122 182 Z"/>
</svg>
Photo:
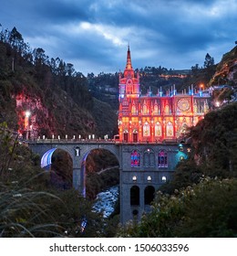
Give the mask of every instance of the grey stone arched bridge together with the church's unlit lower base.
<svg viewBox="0 0 237 256">
<path fill-rule="evenodd" d="M 169 181 L 175 166 L 187 158 L 187 144 L 122 144 L 112 141 L 38 140 L 29 143 L 41 157 L 41 167 L 51 165 L 56 149 L 66 151 L 73 162 L 73 187 L 86 196 L 86 160 L 93 149 L 106 149 L 115 155 L 119 165 L 120 221 L 140 219 L 149 211 L 155 191 Z"/>
</svg>

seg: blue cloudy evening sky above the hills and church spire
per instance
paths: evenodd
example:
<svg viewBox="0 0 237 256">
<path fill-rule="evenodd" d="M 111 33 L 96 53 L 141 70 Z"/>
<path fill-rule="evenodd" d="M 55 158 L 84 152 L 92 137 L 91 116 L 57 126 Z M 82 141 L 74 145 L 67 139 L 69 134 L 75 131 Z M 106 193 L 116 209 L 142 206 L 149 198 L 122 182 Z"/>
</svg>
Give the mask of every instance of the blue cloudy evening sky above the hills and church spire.
<svg viewBox="0 0 237 256">
<path fill-rule="evenodd" d="M 236 0 L 1 0 L 0 24 L 84 75 L 215 63 L 237 40 Z M 2 28 L 0 28 L 2 29 Z"/>
</svg>

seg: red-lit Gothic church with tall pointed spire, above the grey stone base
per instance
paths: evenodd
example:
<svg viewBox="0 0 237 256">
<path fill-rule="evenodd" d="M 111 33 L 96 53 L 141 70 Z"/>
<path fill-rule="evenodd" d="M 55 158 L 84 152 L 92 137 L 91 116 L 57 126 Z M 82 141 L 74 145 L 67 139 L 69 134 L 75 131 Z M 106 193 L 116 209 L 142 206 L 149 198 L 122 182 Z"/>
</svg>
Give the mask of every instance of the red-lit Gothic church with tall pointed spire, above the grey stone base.
<svg viewBox="0 0 237 256">
<path fill-rule="evenodd" d="M 141 95 L 139 72 L 135 74 L 128 48 L 126 68 L 119 73 L 118 133 L 121 143 L 177 141 L 209 111 L 209 95 L 203 91 L 177 93 L 175 86 L 163 93 Z"/>
</svg>

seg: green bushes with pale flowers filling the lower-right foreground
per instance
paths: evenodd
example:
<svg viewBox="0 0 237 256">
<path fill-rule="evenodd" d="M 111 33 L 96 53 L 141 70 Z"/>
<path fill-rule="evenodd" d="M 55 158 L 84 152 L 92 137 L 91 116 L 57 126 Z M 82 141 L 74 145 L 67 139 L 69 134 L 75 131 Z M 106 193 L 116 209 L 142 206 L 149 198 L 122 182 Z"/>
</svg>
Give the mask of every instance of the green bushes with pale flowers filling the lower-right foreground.
<svg viewBox="0 0 237 256">
<path fill-rule="evenodd" d="M 118 237 L 236 237 L 237 180 L 203 178 L 198 185 L 157 193 L 149 214 L 118 229 Z"/>
</svg>

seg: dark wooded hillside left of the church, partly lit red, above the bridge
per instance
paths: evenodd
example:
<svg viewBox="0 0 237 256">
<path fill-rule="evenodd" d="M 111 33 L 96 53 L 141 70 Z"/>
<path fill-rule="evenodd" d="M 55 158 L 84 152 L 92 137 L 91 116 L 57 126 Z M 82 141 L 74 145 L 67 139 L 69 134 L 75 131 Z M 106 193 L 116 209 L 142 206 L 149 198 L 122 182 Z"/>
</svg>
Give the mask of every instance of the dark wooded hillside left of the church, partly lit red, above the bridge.
<svg viewBox="0 0 237 256">
<path fill-rule="evenodd" d="M 97 101 L 95 107 L 94 101 L 85 77 L 58 75 L 46 64 L 36 66 L 0 41 L 0 123 L 32 138 L 51 138 L 53 134 L 61 138 L 79 134 L 82 138 L 88 134 L 102 137 L 114 130 L 117 116 L 108 105 L 98 118 L 98 109 L 104 104 Z M 108 115 L 113 116 L 112 122 L 104 125 L 101 120 Z"/>
</svg>

